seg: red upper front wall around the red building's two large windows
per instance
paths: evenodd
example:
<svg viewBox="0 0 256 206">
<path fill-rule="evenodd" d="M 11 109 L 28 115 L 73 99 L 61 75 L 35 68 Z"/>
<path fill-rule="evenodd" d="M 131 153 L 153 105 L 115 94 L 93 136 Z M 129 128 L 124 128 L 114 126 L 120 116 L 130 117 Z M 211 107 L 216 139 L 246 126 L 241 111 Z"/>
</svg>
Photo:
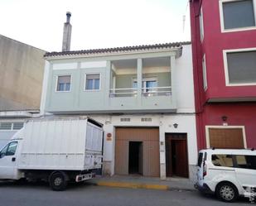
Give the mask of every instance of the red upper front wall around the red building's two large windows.
<svg viewBox="0 0 256 206">
<path fill-rule="evenodd" d="M 219 0 L 202 1 L 206 57 L 206 99 L 256 97 L 256 86 L 225 86 L 223 50 L 256 48 L 256 30 L 221 33 Z"/>
</svg>

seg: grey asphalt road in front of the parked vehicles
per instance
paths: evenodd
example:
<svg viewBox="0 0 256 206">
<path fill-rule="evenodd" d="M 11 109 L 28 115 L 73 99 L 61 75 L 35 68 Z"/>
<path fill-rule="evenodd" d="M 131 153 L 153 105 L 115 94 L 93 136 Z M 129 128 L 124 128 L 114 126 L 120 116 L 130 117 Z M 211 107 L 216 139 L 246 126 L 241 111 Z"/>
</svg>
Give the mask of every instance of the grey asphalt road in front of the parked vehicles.
<svg viewBox="0 0 256 206">
<path fill-rule="evenodd" d="M 44 183 L 1 183 L 0 206 L 222 206 L 252 205 L 246 199 L 225 204 L 197 191 L 120 189 L 88 184 L 72 184 L 54 192 Z"/>
</svg>

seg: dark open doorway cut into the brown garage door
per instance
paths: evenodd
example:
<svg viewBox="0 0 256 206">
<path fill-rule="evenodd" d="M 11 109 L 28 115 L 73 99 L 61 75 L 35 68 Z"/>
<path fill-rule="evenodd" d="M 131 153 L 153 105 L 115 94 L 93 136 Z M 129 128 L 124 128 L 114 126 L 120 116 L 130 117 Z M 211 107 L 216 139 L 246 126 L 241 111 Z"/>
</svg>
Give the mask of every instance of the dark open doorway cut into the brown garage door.
<svg viewBox="0 0 256 206">
<path fill-rule="evenodd" d="M 142 141 L 129 141 L 129 174 L 143 175 L 143 144 Z"/>
</svg>

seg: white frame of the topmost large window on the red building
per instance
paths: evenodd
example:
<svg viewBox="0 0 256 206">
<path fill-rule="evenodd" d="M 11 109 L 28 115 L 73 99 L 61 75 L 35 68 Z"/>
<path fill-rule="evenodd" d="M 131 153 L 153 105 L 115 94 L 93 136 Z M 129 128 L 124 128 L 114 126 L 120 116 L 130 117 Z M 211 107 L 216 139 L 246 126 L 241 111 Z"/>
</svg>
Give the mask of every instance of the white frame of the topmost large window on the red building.
<svg viewBox="0 0 256 206">
<path fill-rule="evenodd" d="M 235 31 L 248 31 L 248 30 L 256 30 L 256 0 L 252 0 L 254 4 L 254 21 L 255 26 L 247 26 L 241 28 L 234 28 L 234 29 L 225 29 L 224 23 L 224 13 L 223 13 L 223 3 L 225 2 L 239 2 L 241 0 L 220 0 L 219 1 L 219 8 L 220 8 L 220 29 L 222 33 L 225 32 L 235 32 Z"/>
</svg>

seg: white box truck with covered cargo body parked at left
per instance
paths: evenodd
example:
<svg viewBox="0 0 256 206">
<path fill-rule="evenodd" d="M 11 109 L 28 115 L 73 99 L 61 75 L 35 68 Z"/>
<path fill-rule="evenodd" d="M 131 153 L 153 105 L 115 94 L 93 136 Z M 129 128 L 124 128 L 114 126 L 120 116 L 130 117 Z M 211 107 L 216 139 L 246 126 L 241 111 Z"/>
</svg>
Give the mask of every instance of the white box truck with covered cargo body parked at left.
<svg viewBox="0 0 256 206">
<path fill-rule="evenodd" d="M 31 119 L 0 151 L 0 180 L 46 180 L 64 190 L 100 170 L 103 125 L 89 117 Z"/>
</svg>

